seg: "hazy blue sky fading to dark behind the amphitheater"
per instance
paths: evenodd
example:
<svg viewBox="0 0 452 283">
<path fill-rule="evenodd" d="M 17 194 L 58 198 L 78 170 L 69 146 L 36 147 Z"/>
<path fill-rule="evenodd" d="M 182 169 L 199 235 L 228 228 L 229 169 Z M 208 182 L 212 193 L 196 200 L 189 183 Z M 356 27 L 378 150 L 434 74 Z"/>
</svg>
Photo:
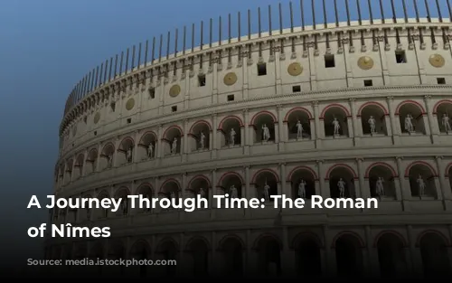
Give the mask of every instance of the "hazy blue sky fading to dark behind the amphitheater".
<svg viewBox="0 0 452 283">
<path fill-rule="evenodd" d="M 338 0 L 340 8 L 344 8 Z M 361 0 L 360 0 L 361 1 Z M 288 15 L 288 2 L 281 1 Z M 296 24 L 300 23 L 299 1 L 294 2 Z M 310 7 L 310 1 L 305 1 Z M 333 0 L 325 0 L 330 7 Z M 355 3 L 354 1 L 352 1 Z M 367 14 L 367 0 L 363 13 Z M 385 0 L 385 15 L 391 17 L 391 5 Z M 433 1 L 430 1 L 433 2 Z M 315 0 L 321 12 L 322 1 Z M 373 15 L 380 16 L 378 2 L 372 0 Z M 407 1 L 412 6 L 412 1 Z M 440 1 L 447 7 L 446 0 Z M 29 239 L 27 228 L 46 221 L 45 210 L 27 210 L 32 194 L 43 197 L 52 193 L 53 167 L 58 151 L 58 128 L 65 100 L 74 84 L 89 70 L 110 56 L 138 42 L 145 42 L 184 24 L 223 16 L 233 18 L 238 11 L 244 17 L 252 9 L 256 23 L 258 5 L 273 5 L 273 28 L 278 29 L 278 2 L 272 0 L 42 0 L 3 1 L 0 7 L 0 220 L 3 253 L 27 250 L 30 256 L 41 251 L 42 240 Z M 433 4 L 432 4 L 433 5 Z M 425 14 L 423 1 L 419 9 Z M 351 14 L 356 18 L 356 6 Z M 403 16 L 396 0 L 399 17 Z M 436 8 L 430 8 L 432 16 Z M 448 16 L 447 8 L 443 16 Z M 341 20 L 345 13 L 341 12 Z M 334 21 L 334 13 L 328 17 Z M 307 21 L 311 14 L 306 12 Z M 323 22 L 322 14 L 317 18 Z M 242 20 L 242 31 L 246 23 Z M 284 20 L 287 27 L 288 17 Z M 308 23 L 306 23 L 308 24 Z M 263 28 L 267 28 L 264 24 Z M 189 28 L 190 29 L 190 28 Z M 257 26 L 253 24 L 253 31 Z M 207 28 L 205 28 L 207 31 Z M 227 33 L 223 32 L 223 38 Z M 234 33 L 236 34 L 236 33 Z M 208 38 L 208 36 L 206 36 Z M 187 40 L 187 42 L 190 42 Z"/>
</svg>

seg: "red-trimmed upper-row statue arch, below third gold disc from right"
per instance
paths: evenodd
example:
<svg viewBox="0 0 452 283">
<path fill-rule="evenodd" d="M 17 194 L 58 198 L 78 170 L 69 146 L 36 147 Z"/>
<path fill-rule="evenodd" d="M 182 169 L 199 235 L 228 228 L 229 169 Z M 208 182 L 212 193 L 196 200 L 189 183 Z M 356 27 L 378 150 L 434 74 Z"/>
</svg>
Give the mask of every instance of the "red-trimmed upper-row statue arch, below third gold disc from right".
<svg viewBox="0 0 452 283">
<path fill-rule="evenodd" d="M 291 108 L 284 118 L 284 122 L 287 123 L 287 133 L 288 139 L 299 139 L 299 138 L 311 138 L 311 120 L 312 115 L 309 110 L 303 107 Z M 297 123 L 300 121 L 302 127 L 301 137 L 298 135 Z"/>
</svg>

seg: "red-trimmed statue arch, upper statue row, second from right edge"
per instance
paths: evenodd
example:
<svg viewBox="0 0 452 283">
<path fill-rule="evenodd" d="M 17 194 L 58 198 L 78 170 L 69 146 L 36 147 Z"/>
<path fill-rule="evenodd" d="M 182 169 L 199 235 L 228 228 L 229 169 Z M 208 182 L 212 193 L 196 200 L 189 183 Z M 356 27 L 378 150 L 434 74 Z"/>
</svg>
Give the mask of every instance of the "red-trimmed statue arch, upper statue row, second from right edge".
<svg viewBox="0 0 452 283">
<path fill-rule="evenodd" d="M 402 132 L 413 134 L 418 133 L 425 135 L 426 129 L 425 129 L 425 123 L 423 116 L 425 115 L 425 109 L 420 105 L 419 102 L 414 100 L 405 100 L 400 102 L 399 106 L 396 108 L 396 116 L 399 116 L 399 122 L 400 122 L 400 128 Z M 406 119 L 408 117 L 411 117 L 412 119 L 412 131 L 409 131 L 409 128 L 407 127 Z"/>
</svg>

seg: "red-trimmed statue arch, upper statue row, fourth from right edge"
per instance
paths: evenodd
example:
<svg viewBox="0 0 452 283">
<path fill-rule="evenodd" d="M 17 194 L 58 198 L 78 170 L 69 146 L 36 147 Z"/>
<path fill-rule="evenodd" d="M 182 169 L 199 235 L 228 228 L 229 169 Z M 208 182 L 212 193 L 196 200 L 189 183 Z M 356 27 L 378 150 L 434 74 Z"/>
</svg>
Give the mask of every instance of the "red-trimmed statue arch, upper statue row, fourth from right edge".
<svg viewBox="0 0 452 283">
<path fill-rule="evenodd" d="M 348 137 L 348 118 L 350 112 L 341 104 L 333 103 L 324 108 L 320 118 L 324 120 L 325 127 L 325 137 L 336 137 L 334 136 L 334 118 L 339 122 L 339 136 Z"/>
</svg>

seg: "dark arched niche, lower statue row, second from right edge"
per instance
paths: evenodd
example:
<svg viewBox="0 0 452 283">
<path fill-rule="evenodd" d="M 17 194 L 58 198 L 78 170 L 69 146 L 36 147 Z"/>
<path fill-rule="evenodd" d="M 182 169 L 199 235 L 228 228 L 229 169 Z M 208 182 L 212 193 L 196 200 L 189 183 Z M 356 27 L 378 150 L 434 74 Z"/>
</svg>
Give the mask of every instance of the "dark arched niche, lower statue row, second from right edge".
<svg viewBox="0 0 452 283">
<path fill-rule="evenodd" d="M 414 164 L 408 171 L 411 196 L 421 198 L 436 198 L 437 188 L 435 173 L 426 164 Z"/>
</svg>

